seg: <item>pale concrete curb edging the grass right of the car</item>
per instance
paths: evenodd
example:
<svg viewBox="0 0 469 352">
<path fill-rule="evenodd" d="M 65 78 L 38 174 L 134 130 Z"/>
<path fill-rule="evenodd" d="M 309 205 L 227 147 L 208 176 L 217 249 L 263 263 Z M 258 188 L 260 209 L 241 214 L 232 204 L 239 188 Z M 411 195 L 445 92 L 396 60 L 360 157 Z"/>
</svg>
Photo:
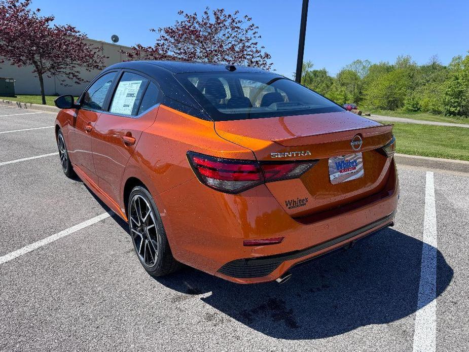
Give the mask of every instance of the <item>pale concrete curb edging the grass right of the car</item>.
<svg viewBox="0 0 469 352">
<path fill-rule="evenodd" d="M 430 158 L 426 156 L 394 154 L 394 159 L 399 165 L 435 169 L 443 171 L 469 173 L 469 161 Z"/>
</svg>

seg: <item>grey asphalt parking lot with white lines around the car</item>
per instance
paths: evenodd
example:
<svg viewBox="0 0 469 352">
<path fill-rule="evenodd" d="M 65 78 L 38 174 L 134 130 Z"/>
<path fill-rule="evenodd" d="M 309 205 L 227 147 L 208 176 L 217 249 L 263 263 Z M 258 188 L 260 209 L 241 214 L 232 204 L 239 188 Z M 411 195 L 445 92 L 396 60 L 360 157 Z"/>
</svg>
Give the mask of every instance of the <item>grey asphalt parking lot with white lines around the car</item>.
<svg viewBox="0 0 469 352">
<path fill-rule="evenodd" d="M 399 168 L 395 226 L 284 285 L 154 279 L 63 175 L 54 119 L 0 105 L 0 351 L 469 349 L 468 177 Z"/>
</svg>

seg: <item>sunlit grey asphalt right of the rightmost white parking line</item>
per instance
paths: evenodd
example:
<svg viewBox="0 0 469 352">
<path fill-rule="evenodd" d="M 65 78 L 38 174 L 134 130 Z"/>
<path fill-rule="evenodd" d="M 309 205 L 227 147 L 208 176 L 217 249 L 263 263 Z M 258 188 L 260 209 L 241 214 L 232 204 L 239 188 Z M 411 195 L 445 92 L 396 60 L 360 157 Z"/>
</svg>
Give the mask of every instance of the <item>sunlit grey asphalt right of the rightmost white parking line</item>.
<svg viewBox="0 0 469 352">
<path fill-rule="evenodd" d="M 435 174 L 438 249 L 454 271 L 437 300 L 437 351 L 463 351 L 469 344 L 469 178 Z M 438 258 L 440 259 L 440 258 Z M 441 261 L 437 260 L 437 290 Z"/>
</svg>

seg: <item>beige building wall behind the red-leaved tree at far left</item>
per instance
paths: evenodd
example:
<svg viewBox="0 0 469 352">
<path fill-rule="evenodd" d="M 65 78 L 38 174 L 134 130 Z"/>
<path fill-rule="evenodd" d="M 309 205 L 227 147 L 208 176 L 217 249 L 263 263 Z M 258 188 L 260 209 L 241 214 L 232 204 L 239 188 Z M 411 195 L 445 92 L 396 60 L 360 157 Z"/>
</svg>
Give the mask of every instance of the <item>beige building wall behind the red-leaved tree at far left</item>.
<svg viewBox="0 0 469 352">
<path fill-rule="evenodd" d="M 126 56 L 125 54 L 121 54 L 120 50 L 128 51 L 130 49 L 126 46 L 95 41 L 92 39 L 86 39 L 85 42 L 101 48 L 102 54 L 109 56 L 109 58 L 105 59 L 105 67 L 125 60 Z M 33 66 L 17 67 L 9 64 L 7 61 L 0 64 L 0 77 L 13 78 L 15 80 L 16 94 L 41 94 L 39 79 L 31 72 L 33 68 Z M 97 70 L 92 72 L 82 70 L 80 75 L 85 82 L 77 85 L 73 81 L 67 80 L 65 83 L 70 85 L 68 87 L 61 85 L 57 78 L 48 78 L 44 75 L 44 90 L 46 95 L 73 94 L 78 96 L 98 73 L 99 71 Z"/>
</svg>

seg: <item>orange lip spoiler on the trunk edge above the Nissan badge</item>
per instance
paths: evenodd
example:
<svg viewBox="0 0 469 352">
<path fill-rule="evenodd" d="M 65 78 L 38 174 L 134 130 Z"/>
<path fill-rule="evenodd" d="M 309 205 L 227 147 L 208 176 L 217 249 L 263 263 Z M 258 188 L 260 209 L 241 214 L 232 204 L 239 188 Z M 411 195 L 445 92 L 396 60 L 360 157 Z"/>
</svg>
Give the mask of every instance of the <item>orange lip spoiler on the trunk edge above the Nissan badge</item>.
<svg viewBox="0 0 469 352">
<path fill-rule="evenodd" d="M 373 137 L 388 133 L 391 135 L 393 125 L 371 126 L 365 128 L 347 129 L 321 134 L 311 134 L 284 139 L 271 139 L 272 142 L 285 147 L 304 146 L 320 143 L 341 142 L 351 140 L 356 134 L 360 133 L 363 138 Z"/>
</svg>

